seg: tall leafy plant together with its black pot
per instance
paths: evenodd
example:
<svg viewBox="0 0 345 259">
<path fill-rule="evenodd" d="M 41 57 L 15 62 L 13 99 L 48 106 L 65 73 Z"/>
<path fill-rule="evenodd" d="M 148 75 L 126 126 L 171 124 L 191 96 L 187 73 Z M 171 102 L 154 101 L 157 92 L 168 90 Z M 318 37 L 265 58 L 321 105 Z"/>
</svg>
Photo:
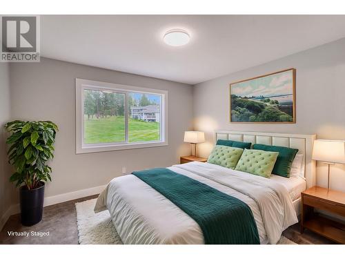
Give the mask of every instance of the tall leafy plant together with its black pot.
<svg viewBox="0 0 345 259">
<path fill-rule="evenodd" d="M 54 157 L 53 144 L 58 131 L 53 122 L 22 122 L 5 125 L 11 133 L 7 139 L 9 163 L 15 172 L 10 182 L 20 186 L 21 224 L 32 226 L 42 219 L 44 186 L 51 181 L 52 169 L 47 165 Z"/>
</svg>

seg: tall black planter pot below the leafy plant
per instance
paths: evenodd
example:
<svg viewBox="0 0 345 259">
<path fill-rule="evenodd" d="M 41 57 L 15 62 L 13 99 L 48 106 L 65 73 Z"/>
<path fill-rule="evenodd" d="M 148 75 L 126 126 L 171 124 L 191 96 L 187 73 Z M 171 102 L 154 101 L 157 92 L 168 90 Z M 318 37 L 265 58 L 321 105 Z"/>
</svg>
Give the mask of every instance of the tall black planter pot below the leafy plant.
<svg viewBox="0 0 345 259">
<path fill-rule="evenodd" d="M 21 224 L 32 226 L 42 220 L 44 182 L 36 189 L 28 190 L 28 187 L 21 186 L 19 189 L 21 203 Z"/>
</svg>

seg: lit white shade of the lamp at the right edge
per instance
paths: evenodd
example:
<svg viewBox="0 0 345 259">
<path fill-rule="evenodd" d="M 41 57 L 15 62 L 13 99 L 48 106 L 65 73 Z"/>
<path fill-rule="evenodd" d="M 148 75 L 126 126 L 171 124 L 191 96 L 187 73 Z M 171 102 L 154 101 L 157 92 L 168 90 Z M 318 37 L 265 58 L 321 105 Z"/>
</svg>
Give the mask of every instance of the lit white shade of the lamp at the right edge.
<svg viewBox="0 0 345 259">
<path fill-rule="evenodd" d="M 345 141 L 315 140 L 313 160 L 345 164 Z"/>
</svg>

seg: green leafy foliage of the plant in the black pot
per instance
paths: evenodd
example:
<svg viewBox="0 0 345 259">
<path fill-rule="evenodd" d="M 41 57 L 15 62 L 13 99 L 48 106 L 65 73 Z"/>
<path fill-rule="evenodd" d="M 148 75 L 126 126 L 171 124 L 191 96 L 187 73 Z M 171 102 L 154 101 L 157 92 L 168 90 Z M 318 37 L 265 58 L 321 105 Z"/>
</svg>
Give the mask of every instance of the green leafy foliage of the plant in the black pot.
<svg viewBox="0 0 345 259">
<path fill-rule="evenodd" d="M 14 166 L 15 172 L 10 182 L 16 186 L 25 184 L 27 188 L 35 189 L 40 182 L 51 181 L 52 169 L 47 166 L 48 160 L 54 157 L 55 135 L 58 131 L 53 122 L 22 122 L 16 120 L 5 125 L 11 133 L 7 139 L 8 162 Z"/>
</svg>

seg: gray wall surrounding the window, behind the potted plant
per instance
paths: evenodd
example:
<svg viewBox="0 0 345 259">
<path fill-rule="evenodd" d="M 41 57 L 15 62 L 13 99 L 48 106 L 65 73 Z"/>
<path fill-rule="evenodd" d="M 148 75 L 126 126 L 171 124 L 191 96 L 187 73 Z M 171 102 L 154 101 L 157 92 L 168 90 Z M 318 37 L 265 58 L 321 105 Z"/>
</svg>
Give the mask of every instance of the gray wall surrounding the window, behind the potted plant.
<svg viewBox="0 0 345 259">
<path fill-rule="evenodd" d="M 76 77 L 168 90 L 169 145 L 76 155 Z M 59 126 L 46 197 L 107 184 L 121 175 L 122 166 L 128 172 L 170 166 L 190 153 L 183 139 L 193 126 L 192 86 L 45 58 L 37 64 L 11 64 L 10 79 L 12 119 L 51 120 Z"/>
</svg>

